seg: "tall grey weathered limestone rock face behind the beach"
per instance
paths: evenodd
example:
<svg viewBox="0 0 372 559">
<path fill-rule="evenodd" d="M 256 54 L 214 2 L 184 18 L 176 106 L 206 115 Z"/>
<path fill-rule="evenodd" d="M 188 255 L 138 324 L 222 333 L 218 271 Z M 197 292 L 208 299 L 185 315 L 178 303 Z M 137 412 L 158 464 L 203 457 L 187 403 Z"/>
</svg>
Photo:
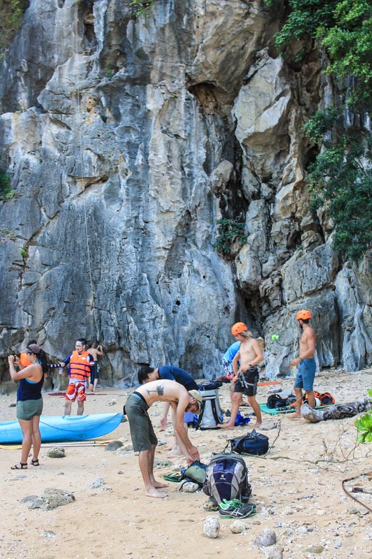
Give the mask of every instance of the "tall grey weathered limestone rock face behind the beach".
<svg viewBox="0 0 372 559">
<path fill-rule="evenodd" d="M 0 203 L 2 356 L 36 337 L 64 358 L 98 337 L 103 384 L 133 384 L 140 363 L 218 377 L 239 319 L 276 377 L 305 307 L 319 368 L 371 362 L 367 263 L 343 265 L 332 224 L 307 212 L 320 61 L 288 68 L 280 21 L 260 1 L 158 0 L 139 17 L 129 0 L 31 2 L 0 68 L 17 192 Z M 214 247 L 221 217 L 245 222 L 235 261 Z"/>
</svg>

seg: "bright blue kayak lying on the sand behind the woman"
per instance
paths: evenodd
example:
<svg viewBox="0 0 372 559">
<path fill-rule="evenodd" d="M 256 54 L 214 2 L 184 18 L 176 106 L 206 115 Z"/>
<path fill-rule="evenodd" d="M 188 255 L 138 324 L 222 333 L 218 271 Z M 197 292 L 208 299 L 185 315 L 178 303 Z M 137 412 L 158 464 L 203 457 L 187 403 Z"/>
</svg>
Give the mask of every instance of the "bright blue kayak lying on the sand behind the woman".
<svg viewBox="0 0 372 559">
<path fill-rule="evenodd" d="M 42 415 L 42 442 L 68 442 L 95 439 L 111 433 L 123 421 L 123 414 Z M 22 442 L 18 421 L 0 423 L 0 444 Z"/>
</svg>

